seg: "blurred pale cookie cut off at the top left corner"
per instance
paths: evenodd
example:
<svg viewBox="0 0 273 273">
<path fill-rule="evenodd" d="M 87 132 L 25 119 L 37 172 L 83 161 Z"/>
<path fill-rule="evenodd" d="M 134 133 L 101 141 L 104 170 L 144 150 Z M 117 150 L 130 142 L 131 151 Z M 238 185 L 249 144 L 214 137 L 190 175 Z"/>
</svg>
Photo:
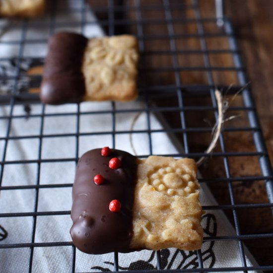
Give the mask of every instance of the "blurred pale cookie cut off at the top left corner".
<svg viewBox="0 0 273 273">
<path fill-rule="evenodd" d="M 45 10 L 45 0 L 0 0 L 1 16 L 36 17 Z"/>
</svg>

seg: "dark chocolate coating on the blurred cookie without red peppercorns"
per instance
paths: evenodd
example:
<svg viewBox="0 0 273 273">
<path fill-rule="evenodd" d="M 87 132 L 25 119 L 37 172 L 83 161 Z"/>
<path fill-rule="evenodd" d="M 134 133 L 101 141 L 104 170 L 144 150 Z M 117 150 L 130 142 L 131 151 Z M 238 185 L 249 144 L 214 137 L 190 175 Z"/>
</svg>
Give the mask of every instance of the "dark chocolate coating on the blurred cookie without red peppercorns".
<svg viewBox="0 0 273 273">
<path fill-rule="evenodd" d="M 82 100 L 85 84 L 81 65 L 87 41 L 69 32 L 51 37 L 41 85 L 42 102 L 57 105 Z"/>
</svg>

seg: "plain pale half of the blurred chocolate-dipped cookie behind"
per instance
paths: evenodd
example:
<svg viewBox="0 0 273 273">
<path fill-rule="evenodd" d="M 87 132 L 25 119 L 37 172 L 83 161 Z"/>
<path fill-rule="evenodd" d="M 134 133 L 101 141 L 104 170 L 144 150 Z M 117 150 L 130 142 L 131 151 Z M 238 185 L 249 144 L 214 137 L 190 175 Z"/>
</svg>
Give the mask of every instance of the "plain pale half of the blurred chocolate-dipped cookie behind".
<svg viewBox="0 0 273 273">
<path fill-rule="evenodd" d="M 84 100 L 135 99 L 137 61 L 137 40 L 132 35 L 90 39 L 82 67 Z"/>
</svg>

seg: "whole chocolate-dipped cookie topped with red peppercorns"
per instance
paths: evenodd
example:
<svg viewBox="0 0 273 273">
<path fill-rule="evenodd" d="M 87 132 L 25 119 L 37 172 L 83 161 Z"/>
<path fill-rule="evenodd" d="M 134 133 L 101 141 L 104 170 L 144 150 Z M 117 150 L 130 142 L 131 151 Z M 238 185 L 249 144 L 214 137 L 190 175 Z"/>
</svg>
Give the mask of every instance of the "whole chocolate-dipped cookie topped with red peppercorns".
<svg viewBox="0 0 273 273">
<path fill-rule="evenodd" d="M 192 159 L 90 150 L 76 169 L 71 238 L 89 254 L 200 249 L 199 192 Z"/>
</svg>

